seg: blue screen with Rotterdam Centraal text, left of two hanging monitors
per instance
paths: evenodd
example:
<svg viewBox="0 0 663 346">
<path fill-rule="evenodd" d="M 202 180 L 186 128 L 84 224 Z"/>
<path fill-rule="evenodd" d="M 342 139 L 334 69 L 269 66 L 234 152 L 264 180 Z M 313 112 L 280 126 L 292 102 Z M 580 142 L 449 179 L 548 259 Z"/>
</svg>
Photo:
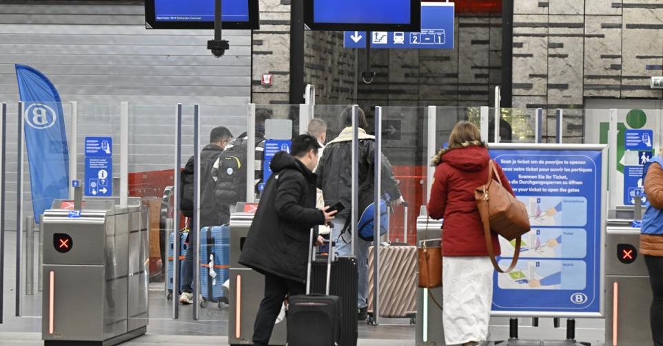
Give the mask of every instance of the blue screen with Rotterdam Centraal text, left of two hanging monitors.
<svg viewBox="0 0 663 346">
<path fill-rule="evenodd" d="M 249 21 L 247 0 L 223 0 L 223 21 Z M 156 21 L 214 21 L 214 0 L 154 0 Z"/>
</svg>

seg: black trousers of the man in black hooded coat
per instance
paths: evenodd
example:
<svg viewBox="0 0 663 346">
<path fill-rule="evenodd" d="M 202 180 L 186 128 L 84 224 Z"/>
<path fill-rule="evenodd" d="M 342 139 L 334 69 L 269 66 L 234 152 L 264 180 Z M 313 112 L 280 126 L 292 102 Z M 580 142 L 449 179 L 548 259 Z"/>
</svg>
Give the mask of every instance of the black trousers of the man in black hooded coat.
<svg viewBox="0 0 663 346">
<path fill-rule="evenodd" d="M 306 285 L 304 283 L 272 274 L 265 275 L 265 298 L 260 303 L 253 329 L 254 346 L 267 346 L 267 343 L 269 343 L 276 317 L 281 312 L 285 296 L 298 296 L 305 293 Z"/>
</svg>

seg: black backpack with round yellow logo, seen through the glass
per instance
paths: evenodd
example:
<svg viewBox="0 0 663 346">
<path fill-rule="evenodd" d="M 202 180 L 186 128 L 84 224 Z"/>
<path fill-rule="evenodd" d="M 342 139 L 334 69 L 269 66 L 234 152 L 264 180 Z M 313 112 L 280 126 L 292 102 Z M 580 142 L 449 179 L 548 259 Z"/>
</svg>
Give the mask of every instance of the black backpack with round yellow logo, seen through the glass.
<svg viewBox="0 0 663 346">
<path fill-rule="evenodd" d="M 236 138 L 232 147 L 227 148 L 214 164 L 216 180 L 216 202 L 218 204 L 236 204 L 246 200 L 246 136 Z M 256 136 L 256 147 L 265 140 Z M 258 169 L 258 167 L 256 167 Z"/>
</svg>

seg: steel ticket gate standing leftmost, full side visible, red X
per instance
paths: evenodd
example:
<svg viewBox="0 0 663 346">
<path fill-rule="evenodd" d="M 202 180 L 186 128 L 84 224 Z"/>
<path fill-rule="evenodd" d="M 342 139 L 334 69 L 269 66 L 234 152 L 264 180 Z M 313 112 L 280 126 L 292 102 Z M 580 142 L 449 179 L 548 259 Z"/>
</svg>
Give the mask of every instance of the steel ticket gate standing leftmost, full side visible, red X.
<svg viewBox="0 0 663 346">
<path fill-rule="evenodd" d="M 117 345 L 147 331 L 147 208 L 130 198 L 55 200 L 43 215 L 46 346 Z"/>
</svg>

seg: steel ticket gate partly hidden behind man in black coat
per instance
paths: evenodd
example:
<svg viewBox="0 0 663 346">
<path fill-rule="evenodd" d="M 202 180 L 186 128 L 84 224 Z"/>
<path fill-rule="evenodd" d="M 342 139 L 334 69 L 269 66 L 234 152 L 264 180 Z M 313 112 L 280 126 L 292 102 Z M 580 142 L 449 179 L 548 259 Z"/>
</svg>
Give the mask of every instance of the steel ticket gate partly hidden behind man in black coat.
<svg viewBox="0 0 663 346">
<path fill-rule="evenodd" d="M 258 308 L 265 295 L 263 274 L 242 266 L 239 255 L 253 222 L 254 204 L 238 204 L 238 213 L 230 216 L 230 294 L 228 314 L 228 343 L 253 345 L 253 327 Z M 245 212 L 244 210 L 252 210 Z M 285 297 L 284 297 L 285 298 Z M 276 321 L 269 345 L 285 345 L 287 340 L 285 318 Z"/>
</svg>

